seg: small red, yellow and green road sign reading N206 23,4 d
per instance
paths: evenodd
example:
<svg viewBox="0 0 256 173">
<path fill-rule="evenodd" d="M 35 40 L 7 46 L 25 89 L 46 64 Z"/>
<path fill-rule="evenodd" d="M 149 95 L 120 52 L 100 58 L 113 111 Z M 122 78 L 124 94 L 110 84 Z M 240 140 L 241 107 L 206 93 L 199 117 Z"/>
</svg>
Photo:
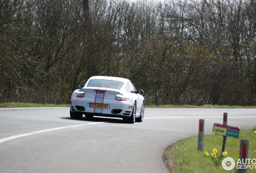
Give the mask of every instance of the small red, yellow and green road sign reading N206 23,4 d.
<svg viewBox="0 0 256 173">
<path fill-rule="evenodd" d="M 216 123 L 213 126 L 213 133 L 215 133 L 216 135 L 223 135 L 223 136 L 238 138 L 239 131 L 240 131 L 240 128 L 238 127 L 225 126 L 225 125 L 220 125 Z"/>
</svg>

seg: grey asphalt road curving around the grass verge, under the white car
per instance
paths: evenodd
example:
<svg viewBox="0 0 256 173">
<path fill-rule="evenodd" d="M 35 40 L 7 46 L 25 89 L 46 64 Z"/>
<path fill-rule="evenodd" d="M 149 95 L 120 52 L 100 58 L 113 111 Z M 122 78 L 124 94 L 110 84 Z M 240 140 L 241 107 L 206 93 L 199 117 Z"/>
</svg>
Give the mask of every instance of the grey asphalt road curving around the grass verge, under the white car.
<svg viewBox="0 0 256 173">
<path fill-rule="evenodd" d="M 0 173 L 167 173 L 164 149 L 214 123 L 251 129 L 256 109 L 145 109 L 142 123 L 72 120 L 69 108 L 0 109 Z M 195 144 L 197 145 L 197 144 Z"/>
</svg>

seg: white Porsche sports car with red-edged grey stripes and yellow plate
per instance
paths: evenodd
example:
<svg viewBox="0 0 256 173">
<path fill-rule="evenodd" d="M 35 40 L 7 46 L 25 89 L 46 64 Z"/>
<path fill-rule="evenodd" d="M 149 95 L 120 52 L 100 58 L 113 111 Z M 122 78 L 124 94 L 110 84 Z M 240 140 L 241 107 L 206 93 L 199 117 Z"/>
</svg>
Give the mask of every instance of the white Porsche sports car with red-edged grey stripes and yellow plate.
<svg viewBox="0 0 256 173">
<path fill-rule="evenodd" d="M 128 123 L 142 122 L 145 100 L 126 78 L 93 76 L 73 92 L 70 117 L 81 119 L 95 116 L 119 117 Z"/>
</svg>

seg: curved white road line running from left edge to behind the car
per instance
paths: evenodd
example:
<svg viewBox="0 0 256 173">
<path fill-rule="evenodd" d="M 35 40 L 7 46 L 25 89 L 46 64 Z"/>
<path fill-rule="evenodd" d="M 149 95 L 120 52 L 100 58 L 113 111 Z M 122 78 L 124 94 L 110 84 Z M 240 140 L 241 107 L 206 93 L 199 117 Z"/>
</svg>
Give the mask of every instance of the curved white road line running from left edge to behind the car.
<svg viewBox="0 0 256 173">
<path fill-rule="evenodd" d="M 20 134 L 20 135 L 14 135 L 14 136 L 10 136 L 10 137 L 0 139 L 0 143 L 4 143 L 4 142 L 10 141 L 12 139 L 17 139 L 17 138 L 26 137 L 26 136 L 29 136 L 29 135 L 34 135 L 34 134 L 39 134 L 39 133 L 44 133 L 44 132 L 49 132 L 49 131 L 56 131 L 56 130 L 67 129 L 67 128 L 71 128 L 71 127 L 80 127 L 80 126 L 86 126 L 86 125 L 95 125 L 95 124 L 101 124 L 101 123 L 107 123 L 107 122 L 109 122 L 109 121 L 87 123 L 87 124 L 80 124 L 80 125 L 71 125 L 71 126 L 65 126 L 65 127 L 45 129 L 45 130 L 41 130 L 41 131 L 34 131 L 34 132 L 30 132 L 30 133 L 23 133 L 23 134 Z"/>
</svg>

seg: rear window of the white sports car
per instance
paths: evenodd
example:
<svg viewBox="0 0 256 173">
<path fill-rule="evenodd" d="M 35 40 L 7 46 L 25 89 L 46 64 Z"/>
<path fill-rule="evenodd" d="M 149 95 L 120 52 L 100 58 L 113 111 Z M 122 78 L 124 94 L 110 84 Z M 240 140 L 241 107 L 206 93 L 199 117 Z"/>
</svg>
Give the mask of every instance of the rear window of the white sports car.
<svg viewBox="0 0 256 173">
<path fill-rule="evenodd" d="M 115 80 L 101 80 L 101 79 L 92 79 L 88 82 L 87 87 L 102 87 L 102 88 L 111 88 L 111 89 L 121 89 L 124 85 L 123 82 Z"/>
</svg>

